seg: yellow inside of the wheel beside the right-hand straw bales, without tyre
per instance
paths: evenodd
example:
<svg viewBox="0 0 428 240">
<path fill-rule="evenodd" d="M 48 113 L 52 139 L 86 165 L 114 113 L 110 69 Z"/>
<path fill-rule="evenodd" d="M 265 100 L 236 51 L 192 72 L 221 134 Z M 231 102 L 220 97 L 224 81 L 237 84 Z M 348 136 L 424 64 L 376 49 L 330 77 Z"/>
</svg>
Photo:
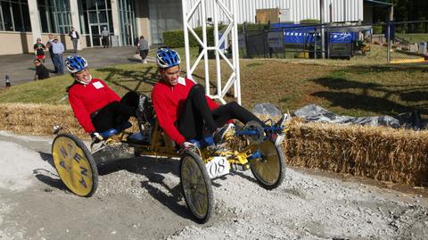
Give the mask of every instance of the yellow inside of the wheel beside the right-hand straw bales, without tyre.
<svg viewBox="0 0 428 240">
<path fill-rule="evenodd" d="M 259 151 L 261 159 L 251 161 L 251 169 L 264 184 L 273 185 L 279 178 L 280 160 L 276 145 L 272 141 L 264 141 L 254 145 L 253 153 Z"/>
</svg>

